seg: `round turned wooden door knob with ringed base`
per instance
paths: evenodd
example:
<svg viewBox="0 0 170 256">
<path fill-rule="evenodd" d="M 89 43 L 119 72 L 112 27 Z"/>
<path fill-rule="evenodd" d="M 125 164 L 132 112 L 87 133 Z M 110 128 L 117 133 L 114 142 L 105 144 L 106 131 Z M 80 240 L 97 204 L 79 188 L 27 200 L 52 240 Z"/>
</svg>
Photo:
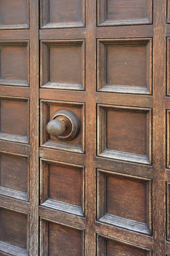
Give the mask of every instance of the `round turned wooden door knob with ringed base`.
<svg viewBox="0 0 170 256">
<path fill-rule="evenodd" d="M 68 110 L 59 110 L 47 124 L 48 134 L 60 140 L 73 140 L 79 134 L 80 122 L 75 113 Z"/>
</svg>

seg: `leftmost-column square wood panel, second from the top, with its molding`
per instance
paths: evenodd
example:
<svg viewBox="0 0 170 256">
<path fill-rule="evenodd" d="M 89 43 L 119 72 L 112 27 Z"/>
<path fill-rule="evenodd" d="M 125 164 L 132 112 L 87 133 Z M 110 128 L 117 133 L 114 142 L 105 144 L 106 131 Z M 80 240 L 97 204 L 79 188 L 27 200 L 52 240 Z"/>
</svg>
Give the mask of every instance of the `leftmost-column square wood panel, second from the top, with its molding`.
<svg viewBox="0 0 170 256">
<path fill-rule="evenodd" d="M 29 85 L 28 41 L 0 42 L 0 85 Z"/>
</svg>

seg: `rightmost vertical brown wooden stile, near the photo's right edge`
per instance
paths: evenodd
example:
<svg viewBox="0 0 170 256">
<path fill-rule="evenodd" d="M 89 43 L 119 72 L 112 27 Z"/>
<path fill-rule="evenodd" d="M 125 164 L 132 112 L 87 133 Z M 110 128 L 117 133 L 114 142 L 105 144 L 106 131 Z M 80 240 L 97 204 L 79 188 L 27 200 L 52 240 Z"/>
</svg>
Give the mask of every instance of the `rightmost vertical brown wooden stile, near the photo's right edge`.
<svg viewBox="0 0 170 256">
<path fill-rule="evenodd" d="M 153 1 L 153 256 L 165 256 L 166 0 Z"/>
</svg>

